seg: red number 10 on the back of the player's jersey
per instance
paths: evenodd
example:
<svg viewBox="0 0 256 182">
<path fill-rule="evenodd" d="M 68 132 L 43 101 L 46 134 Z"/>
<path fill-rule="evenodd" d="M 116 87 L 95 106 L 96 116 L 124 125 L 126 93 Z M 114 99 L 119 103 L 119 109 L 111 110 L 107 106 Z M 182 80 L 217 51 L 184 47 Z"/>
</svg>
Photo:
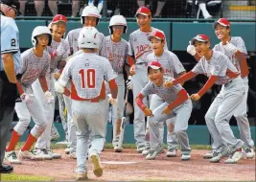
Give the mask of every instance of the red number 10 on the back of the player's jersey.
<svg viewBox="0 0 256 182">
<path fill-rule="evenodd" d="M 81 88 L 95 88 L 95 69 L 81 69 L 79 74 L 81 75 Z"/>
</svg>

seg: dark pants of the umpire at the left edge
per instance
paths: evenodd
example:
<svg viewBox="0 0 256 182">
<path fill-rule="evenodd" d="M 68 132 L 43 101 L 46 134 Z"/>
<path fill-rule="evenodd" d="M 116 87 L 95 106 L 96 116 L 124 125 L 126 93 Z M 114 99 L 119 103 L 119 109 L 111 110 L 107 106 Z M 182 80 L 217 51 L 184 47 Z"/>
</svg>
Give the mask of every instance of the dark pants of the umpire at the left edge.
<svg viewBox="0 0 256 182">
<path fill-rule="evenodd" d="M 12 125 L 16 98 L 16 84 L 8 80 L 4 71 L 0 71 L 0 164 L 3 163 L 5 157 L 6 144 Z"/>
</svg>

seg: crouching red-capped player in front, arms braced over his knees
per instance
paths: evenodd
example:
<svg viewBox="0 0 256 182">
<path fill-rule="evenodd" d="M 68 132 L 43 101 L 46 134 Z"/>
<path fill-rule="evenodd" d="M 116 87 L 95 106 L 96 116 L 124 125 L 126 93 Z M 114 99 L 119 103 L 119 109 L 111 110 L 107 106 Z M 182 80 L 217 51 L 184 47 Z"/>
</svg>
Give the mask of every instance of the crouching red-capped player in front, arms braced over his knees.
<svg viewBox="0 0 256 182">
<path fill-rule="evenodd" d="M 151 39 L 152 41 L 154 40 Z M 188 93 L 180 84 L 169 88 L 164 87 L 164 83 L 167 80 L 172 81 L 174 79 L 164 77 L 165 71 L 159 61 L 154 60 L 149 63 L 148 75 L 150 81 L 135 100 L 145 116 L 149 116 L 151 151 L 146 156 L 146 159 L 155 159 L 162 152 L 159 125 L 167 119 L 175 117 L 175 135 L 180 143 L 181 160 L 189 160 L 191 148 L 186 130 L 192 112 L 192 102 L 189 99 Z M 146 96 L 151 94 L 157 95 L 162 100 L 153 110 L 142 102 Z"/>
</svg>

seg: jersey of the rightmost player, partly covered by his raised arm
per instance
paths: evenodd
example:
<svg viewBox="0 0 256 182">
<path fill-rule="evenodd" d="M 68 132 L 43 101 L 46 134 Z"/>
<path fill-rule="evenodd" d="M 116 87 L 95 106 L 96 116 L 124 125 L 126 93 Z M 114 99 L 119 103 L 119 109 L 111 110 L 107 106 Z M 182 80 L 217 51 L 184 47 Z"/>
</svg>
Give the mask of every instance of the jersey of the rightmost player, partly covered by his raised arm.
<svg viewBox="0 0 256 182">
<path fill-rule="evenodd" d="M 231 36 L 231 39 L 229 41 L 231 44 L 237 47 L 237 49 L 241 52 L 244 53 L 244 55 L 247 55 L 247 51 L 244 45 L 244 40 L 241 36 Z M 229 57 L 229 59 L 233 62 L 233 64 L 236 66 L 238 71 L 241 73 L 241 67 L 240 67 L 240 62 L 239 59 L 235 56 L 235 54 L 228 53 L 222 43 L 220 42 L 219 44 L 215 45 L 213 48 L 215 51 L 220 51 L 223 53 L 225 56 Z"/>
</svg>

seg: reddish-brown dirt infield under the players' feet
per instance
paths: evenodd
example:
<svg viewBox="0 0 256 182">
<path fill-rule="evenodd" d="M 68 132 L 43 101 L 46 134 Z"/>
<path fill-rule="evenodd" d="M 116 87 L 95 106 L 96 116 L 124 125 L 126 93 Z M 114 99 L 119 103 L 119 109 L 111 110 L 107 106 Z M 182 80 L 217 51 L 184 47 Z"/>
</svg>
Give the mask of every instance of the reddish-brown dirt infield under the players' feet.
<svg viewBox="0 0 256 182">
<path fill-rule="evenodd" d="M 76 160 L 64 154 L 64 149 L 55 149 L 63 154 L 62 159 L 50 161 L 24 161 L 22 165 L 14 166 L 14 173 L 32 174 L 54 177 L 55 180 L 75 180 Z M 167 158 L 165 153 L 156 160 L 145 160 L 135 149 L 124 149 L 122 153 L 114 153 L 105 149 L 101 155 L 104 175 L 97 178 L 91 171 L 88 162 L 88 177 L 103 181 L 255 181 L 255 159 L 241 160 L 238 164 L 213 164 L 202 158 L 206 150 L 194 149 L 190 161 L 180 160 L 180 154 L 175 158 Z M 129 164 L 118 164 L 129 162 Z M 114 164 L 113 164 L 114 163 Z"/>
</svg>

